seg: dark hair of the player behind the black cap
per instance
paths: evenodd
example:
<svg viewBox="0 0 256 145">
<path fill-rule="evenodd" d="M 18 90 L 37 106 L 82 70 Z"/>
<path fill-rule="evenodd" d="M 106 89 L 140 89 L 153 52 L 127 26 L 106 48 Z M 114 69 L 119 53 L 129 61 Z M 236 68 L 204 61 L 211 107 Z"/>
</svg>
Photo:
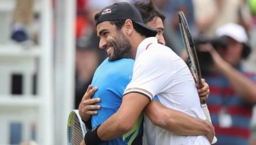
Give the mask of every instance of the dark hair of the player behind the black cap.
<svg viewBox="0 0 256 145">
<path fill-rule="evenodd" d="M 143 22 L 145 24 L 152 21 L 155 17 L 161 18 L 161 20 L 164 23 L 164 20 L 165 20 L 164 15 L 159 10 L 157 10 L 152 0 L 150 0 L 148 3 L 138 1 L 134 3 L 134 6 L 140 11 L 140 14 L 143 18 Z"/>
</svg>

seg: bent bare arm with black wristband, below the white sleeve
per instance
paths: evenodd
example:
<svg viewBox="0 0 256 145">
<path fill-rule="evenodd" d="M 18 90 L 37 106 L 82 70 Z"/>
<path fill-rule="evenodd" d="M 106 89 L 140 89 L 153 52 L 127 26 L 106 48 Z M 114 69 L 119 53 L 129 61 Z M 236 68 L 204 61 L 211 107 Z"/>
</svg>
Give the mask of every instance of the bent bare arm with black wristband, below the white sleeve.
<svg viewBox="0 0 256 145">
<path fill-rule="evenodd" d="M 108 118 L 108 120 L 104 121 L 97 129 L 86 133 L 84 137 L 86 144 L 90 144 L 90 142 L 93 144 L 95 139 L 108 141 L 129 132 L 149 101 L 145 95 L 140 93 L 128 93 L 124 95 L 118 111 Z"/>
</svg>

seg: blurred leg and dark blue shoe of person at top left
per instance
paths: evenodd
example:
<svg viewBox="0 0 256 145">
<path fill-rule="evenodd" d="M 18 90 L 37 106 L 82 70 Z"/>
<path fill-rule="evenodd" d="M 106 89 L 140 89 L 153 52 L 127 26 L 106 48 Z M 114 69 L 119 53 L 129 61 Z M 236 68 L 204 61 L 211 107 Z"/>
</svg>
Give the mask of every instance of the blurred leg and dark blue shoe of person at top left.
<svg viewBox="0 0 256 145">
<path fill-rule="evenodd" d="M 11 39 L 18 43 L 29 42 L 28 26 L 33 21 L 34 13 L 33 0 L 16 1 L 15 10 L 13 12 L 13 25 Z"/>
</svg>

